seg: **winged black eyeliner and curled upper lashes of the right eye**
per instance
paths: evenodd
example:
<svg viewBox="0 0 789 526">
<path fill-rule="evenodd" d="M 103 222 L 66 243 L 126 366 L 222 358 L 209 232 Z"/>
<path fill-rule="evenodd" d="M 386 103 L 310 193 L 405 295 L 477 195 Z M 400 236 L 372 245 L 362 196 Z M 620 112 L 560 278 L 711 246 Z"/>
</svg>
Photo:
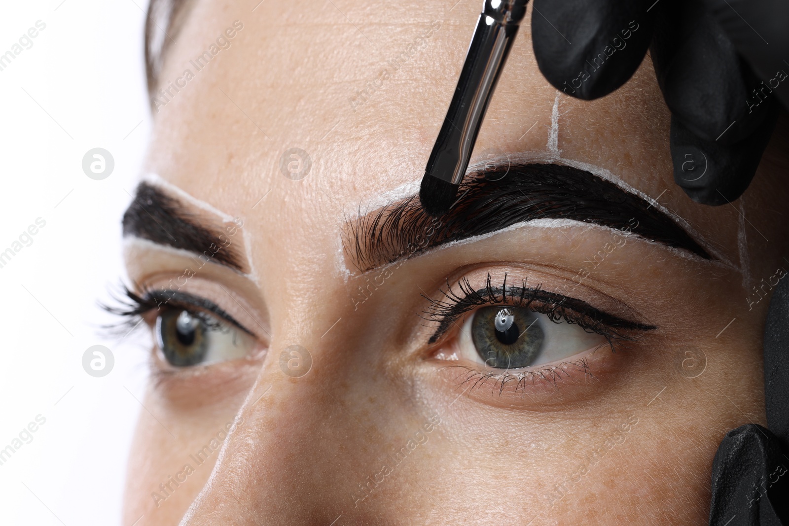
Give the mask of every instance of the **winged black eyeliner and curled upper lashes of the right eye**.
<svg viewBox="0 0 789 526">
<path fill-rule="evenodd" d="M 608 314 L 608 312 L 592 307 L 585 301 L 545 291 L 540 285 L 529 289 L 525 279 L 519 287 L 514 285 L 507 287 L 507 274 L 504 274 L 501 287 L 493 287 L 491 275 L 488 274 L 484 289 L 473 289 L 466 277 L 458 280 L 458 289 L 460 289 L 460 294 L 455 293 L 447 282 L 447 290 L 441 291 L 446 300 L 434 300 L 422 295 L 430 302 L 430 308 L 424 312 L 428 321 L 439 323 L 438 329 L 428 340 L 428 344 L 436 343 L 447 332 L 447 329 L 466 312 L 486 304 L 511 304 L 515 307 L 529 308 L 533 312 L 548 315 L 548 318 L 554 323 L 575 323 L 586 332 L 604 336 L 611 346 L 613 346 L 611 342 L 615 339 L 634 339 L 623 334 L 621 330 L 654 330 L 657 328 L 653 325 L 631 322 Z"/>
</svg>

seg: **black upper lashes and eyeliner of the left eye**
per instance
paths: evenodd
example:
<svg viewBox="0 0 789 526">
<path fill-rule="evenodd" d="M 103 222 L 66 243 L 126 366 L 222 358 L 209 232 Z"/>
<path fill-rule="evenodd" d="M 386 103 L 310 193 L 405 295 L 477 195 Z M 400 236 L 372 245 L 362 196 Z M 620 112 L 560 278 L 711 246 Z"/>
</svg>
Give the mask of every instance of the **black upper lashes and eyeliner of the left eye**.
<svg viewBox="0 0 789 526">
<path fill-rule="evenodd" d="M 211 319 L 204 311 L 210 311 L 226 322 L 237 326 L 245 333 L 254 336 L 252 331 L 237 322 L 233 316 L 224 311 L 219 305 L 205 298 L 193 296 L 192 294 L 159 289 L 143 289 L 143 293 L 140 296 L 125 285 L 123 285 L 122 289 L 122 295 L 124 297 L 118 298 L 113 296 L 113 299 L 118 302 L 119 306 L 102 305 L 105 311 L 122 318 L 120 323 L 106 327 L 108 329 L 118 329 L 122 327 L 131 329 L 139 325 L 143 316 L 150 311 L 161 311 L 165 308 L 181 308 L 200 317 L 204 323 L 213 329 L 220 329 L 222 324 Z"/>
</svg>

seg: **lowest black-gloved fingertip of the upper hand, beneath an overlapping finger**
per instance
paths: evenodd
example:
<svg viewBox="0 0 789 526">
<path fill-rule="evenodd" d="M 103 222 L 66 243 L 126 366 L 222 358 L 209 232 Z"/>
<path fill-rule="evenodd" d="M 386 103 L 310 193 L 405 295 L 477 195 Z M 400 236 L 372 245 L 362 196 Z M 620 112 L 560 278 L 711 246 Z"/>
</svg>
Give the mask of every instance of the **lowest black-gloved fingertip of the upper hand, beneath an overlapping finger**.
<svg viewBox="0 0 789 526">
<path fill-rule="evenodd" d="M 777 103 L 772 101 L 777 108 Z M 768 115 L 761 128 L 731 146 L 698 137 L 671 115 L 671 160 L 674 182 L 697 203 L 731 203 L 750 185 L 761 154 L 775 128 L 777 112 Z"/>
</svg>

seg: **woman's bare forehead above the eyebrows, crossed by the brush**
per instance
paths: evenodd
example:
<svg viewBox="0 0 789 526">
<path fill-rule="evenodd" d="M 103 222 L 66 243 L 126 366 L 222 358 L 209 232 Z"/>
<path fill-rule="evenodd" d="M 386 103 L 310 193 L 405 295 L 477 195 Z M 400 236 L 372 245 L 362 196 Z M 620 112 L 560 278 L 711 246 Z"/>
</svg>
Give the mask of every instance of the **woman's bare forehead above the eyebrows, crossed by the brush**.
<svg viewBox="0 0 789 526">
<path fill-rule="evenodd" d="M 478 3 L 196 2 L 166 58 L 148 169 L 272 236 L 416 192 Z M 583 162 L 646 196 L 671 188 L 649 60 L 604 99 L 570 99 L 540 75 L 529 19 L 472 163 Z"/>
</svg>

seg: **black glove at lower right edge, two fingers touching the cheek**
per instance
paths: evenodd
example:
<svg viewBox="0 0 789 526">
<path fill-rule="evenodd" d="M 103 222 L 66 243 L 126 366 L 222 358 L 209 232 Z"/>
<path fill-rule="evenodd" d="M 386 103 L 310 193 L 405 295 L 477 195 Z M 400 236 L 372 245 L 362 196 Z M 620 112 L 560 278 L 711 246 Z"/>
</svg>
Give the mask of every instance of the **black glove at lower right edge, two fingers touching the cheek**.
<svg viewBox="0 0 789 526">
<path fill-rule="evenodd" d="M 710 526 L 789 525 L 787 367 L 789 280 L 783 279 L 772 293 L 765 327 L 765 408 L 770 431 L 750 423 L 729 431 L 720 442 L 712 464 Z"/>
</svg>

